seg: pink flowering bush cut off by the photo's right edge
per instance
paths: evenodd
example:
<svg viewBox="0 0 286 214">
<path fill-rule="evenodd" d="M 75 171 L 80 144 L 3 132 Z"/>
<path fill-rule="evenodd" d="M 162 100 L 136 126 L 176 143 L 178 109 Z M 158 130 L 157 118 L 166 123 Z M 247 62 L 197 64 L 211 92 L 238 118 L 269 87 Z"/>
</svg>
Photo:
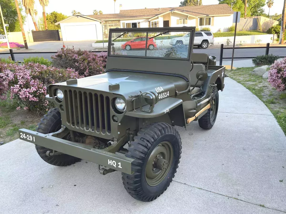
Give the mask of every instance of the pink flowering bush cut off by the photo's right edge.
<svg viewBox="0 0 286 214">
<path fill-rule="evenodd" d="M 268 71 L 268 82 L 277 91 L 284 91 L 286 85 L 286 58 L 276 60 Z"/>
</svg>

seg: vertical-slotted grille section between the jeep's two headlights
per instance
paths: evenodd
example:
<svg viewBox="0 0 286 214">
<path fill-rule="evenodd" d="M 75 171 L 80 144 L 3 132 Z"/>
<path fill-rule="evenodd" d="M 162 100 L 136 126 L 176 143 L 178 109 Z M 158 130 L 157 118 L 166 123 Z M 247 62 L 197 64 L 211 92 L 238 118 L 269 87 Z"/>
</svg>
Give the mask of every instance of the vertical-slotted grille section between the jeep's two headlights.
<svg viewBox="0 0 286 214">
<path fill-rule="evenodd" d="M 110 98 L 103 94 L 65 90 L 67 124 L 73 128 L 111 133 Z"/>
</svg>

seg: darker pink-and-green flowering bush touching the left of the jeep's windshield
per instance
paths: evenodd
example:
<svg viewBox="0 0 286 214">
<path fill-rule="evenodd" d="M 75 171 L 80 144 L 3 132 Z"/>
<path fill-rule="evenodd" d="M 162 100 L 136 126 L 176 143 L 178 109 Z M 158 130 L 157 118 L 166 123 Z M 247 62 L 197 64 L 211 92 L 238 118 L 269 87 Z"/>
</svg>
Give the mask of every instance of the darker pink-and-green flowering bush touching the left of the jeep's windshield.
<svg viewBox="0 0 286 214">
<path fill-rule="evenodd" d="M 93 76 L 104 73 L 107 53 L 92 53 L 82 50 L 62 49 L 51 56 L 53 66 L 57 68 L 72 68 L 79 75 Z"/>
</svg>

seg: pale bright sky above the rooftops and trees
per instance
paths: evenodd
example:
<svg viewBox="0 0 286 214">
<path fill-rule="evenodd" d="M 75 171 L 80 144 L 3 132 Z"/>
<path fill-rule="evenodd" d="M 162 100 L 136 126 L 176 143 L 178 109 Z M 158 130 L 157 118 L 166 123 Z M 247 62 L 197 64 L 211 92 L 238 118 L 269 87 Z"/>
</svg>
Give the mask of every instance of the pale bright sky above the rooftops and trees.
<svg viewBox="0 0 286 214">
<path fill-rule="evenodd" d="M 21 0 L 20 0 L 21 1 Z M 115 12 L 119 13 L 119 5 L 122 4 L 123 10 L 128 9 L 143 9 L 156 8 L 156 7 L 178 7 L 182 0 L 164 0 L 164 1 L 154 1 L 154 0 L 116 0 L 115 2 Z M 217 0 L 202 0 L 203 5 L 214 5 L 218 4 Z M 42 16 L 42 7 L 38 0 L 35 0 L 35 9 L 38 11 L 37 19 Z M 46 13 L 57 11 L 65 15 L 72 15 L 72 10 L 76 10 L 83 15 L 92 15 L 93 10 L 102 11 L 103 13 L 114 13 L 114 0 L 49 0 L 49 5 L 46 7 Z M 268 7 L 264 7 L 265 13 L 268 13 Z M 275 13 L 281 14 L 283 10 L 283 0 L 274 0 L 274 4 L 270 9 L 270 15 Z M 25 22 L 24 29 L 32 30 L 35 29 L 30 15 L 28 16 L 28 22 Z"/>
</svg>

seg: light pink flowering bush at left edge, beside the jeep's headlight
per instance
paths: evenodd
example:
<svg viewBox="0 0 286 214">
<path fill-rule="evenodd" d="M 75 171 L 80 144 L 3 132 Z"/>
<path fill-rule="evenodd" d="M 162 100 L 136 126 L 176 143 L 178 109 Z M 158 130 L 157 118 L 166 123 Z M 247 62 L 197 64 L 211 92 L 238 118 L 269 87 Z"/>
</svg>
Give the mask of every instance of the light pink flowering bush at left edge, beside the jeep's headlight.
<svg viewBox="0 0 286 214">
<path fill-rule="evenodd" d="M 33 62 L 23 65 L 0 63 L 0 99 L 7 98 L 10 90 L 11 99 L 21 102 L 24 109 L 44 113 L 53 107 L 53 103 L 45 100 L 49 84 L 81 77 L 71 68 L 60 69 Z"/>
</svg>

